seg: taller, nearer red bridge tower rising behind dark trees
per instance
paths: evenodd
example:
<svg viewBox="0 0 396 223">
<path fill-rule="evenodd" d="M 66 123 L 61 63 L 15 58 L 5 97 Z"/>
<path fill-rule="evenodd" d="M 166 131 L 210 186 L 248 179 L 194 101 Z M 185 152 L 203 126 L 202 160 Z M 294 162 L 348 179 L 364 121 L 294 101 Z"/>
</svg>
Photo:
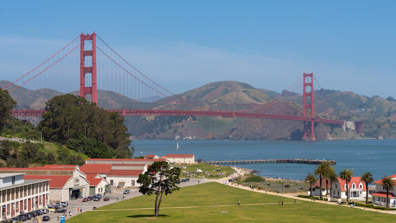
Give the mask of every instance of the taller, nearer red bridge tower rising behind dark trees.
<svg viewBox="0 0 396 223">
<path fill-rule="evenodd" d="M 91 94 L 92 96 L 92 102 L 95 102 L 98 105 L 98 88 L 97 88 L 97 75 L 96 75 L 96 34 L 95 32 L 91 35 L 87 34 L 81 34 L 80 35 L 81 39 L 81 50 L 80 50 L 80 96 L 84 97 L 87 94 Z M 86 40 L 91 40 L 92 41 L 92 49 L 91 50 L 85 50 L 85 44 L 90 43 L 90 41 Z M 91 48 L 88 47 L 87 48 Z M 91 56 L 92 57 L 92 66 L 91 67 L 85 67 L 85 58 Z M 86 74 L 91 74 L 92 76 L 92 86 L 87 87 L 85 84 L 85 77 Z"/>
</svg>

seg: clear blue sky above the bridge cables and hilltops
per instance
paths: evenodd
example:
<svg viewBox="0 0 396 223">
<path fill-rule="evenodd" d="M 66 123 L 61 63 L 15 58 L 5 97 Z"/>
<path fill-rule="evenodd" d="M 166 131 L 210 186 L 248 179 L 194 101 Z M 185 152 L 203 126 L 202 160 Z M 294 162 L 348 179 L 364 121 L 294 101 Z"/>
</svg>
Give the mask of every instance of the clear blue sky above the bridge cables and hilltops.
<svg viewBox="0 0 396 223">
<path fill-rule="evenodd" d="M 396 98 L 395 0 L 0 0 L 0 80 L 95 32 L 174 93 L 235 80 Z M 78 84 L 78 83 L 76 83 Z"/>
</svg>

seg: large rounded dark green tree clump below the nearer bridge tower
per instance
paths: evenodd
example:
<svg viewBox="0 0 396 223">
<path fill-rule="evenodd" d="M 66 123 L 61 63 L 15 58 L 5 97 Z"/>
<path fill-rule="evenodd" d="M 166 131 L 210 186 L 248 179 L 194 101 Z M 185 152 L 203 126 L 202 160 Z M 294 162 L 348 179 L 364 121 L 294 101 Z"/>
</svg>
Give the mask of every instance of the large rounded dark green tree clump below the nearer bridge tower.
<svg viewBox="0 0 396 223">
<path fill-rule="evenodd" d="M 37 126 L 45 140 L 81 149 L 91 158 L 132 157 L 128 129 L 117 112 L 108 112 L 71 94 L 50 99 L 46 111 Z"/>
</svg>

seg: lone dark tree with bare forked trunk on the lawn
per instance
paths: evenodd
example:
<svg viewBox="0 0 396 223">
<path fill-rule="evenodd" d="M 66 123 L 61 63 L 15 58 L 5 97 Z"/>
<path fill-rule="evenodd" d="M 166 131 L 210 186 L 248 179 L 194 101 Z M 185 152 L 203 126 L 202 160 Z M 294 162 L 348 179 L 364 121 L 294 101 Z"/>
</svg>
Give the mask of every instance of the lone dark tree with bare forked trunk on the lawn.
<svg viewBox="0 0 396 223">
<path fill-rule="evenodd" d="M 165 192 L 165 195 L 168 195 L 168 193 L 179 190 L 179 187 L 176 186 L 176 183 L 180 181 L 179 175 L 180 168 L 174 168 L 166 161 L 154 162 L 148 167 L 146 173 L 139 175 L 137 182 L 142 184 L 139 187 L 139 192 L 148 195 L 156 194 L 155 217 L 158 217 L 163 193 Z"/>
</svg>

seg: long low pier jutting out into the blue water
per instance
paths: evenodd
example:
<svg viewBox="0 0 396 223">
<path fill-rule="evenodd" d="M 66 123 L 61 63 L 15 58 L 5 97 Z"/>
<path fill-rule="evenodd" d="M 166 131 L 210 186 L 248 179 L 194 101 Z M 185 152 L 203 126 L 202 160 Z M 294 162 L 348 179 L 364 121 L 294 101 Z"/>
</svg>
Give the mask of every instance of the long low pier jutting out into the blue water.
<svg viewBox="0 0 396 223">
<path fill-rule="evenodd" d="M 204 161 L 202 163 L 214 165 L 238 165 L 238 164 L 266 164 L 266 163 L 305 163 L 319 165 L 323 162 L 330 162 L 336 165 L 336 160 L 320 160 L 320 159 L 256 159 L 256 160 L 231 160 L 231 161 Z"/>
</svg>

